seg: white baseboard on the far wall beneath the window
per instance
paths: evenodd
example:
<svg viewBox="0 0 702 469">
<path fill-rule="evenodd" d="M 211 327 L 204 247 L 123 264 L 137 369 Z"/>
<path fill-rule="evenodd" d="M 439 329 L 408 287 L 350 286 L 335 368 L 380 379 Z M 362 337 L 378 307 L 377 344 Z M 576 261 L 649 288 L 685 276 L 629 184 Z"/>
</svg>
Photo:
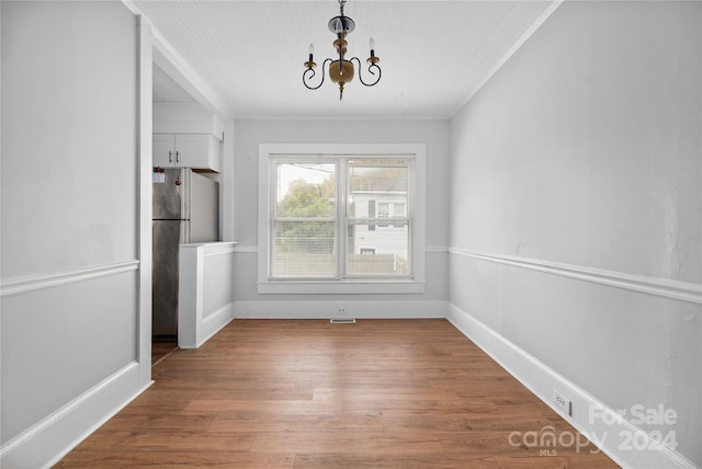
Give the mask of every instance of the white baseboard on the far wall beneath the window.
<svg viewBox="0 0 702 469">
<path fill-rule="evenodd" d="M 446 301 L 235 301 L 234 316 L 241 319 L 445 318 Z"/>
</svg>

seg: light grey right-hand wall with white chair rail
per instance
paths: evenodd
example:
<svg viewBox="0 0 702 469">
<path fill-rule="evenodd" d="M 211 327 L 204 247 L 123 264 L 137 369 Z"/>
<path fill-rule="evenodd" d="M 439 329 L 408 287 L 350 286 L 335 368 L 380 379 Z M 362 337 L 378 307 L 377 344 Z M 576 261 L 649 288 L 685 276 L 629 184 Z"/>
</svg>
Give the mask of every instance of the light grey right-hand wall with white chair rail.
<svg viewBox="0 0 702 469">
<path fill-rule="evenodd" d="M 611 409 L 676 410 L 642 430 L 698 466 L 701 7 L 563 3 L 452 121 L 450 210 L 453 320 Z"/>
</svg>

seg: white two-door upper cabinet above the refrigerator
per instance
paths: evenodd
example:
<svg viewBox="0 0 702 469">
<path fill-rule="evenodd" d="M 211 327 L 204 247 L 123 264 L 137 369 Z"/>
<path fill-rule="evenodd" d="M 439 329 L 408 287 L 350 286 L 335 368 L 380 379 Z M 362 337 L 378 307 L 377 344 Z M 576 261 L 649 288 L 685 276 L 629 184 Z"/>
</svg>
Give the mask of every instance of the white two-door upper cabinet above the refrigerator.
<svg viewBox="0 0 702 469">
<path fill-rule="evenodd" d="M 208 134 L 154 134 L 154 167 L 219 172 L 219 140 Z"/>
</svg>

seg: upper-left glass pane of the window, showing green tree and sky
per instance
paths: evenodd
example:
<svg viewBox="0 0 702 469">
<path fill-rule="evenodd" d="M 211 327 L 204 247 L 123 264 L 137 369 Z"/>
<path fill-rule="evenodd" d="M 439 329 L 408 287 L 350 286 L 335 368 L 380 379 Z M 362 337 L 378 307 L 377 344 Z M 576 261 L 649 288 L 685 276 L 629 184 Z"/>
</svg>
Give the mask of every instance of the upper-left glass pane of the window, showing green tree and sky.
<svg viewBox="0 0 702 469">
<path fill-rule="evenodd" d="M 279 163 L 275 217 L 333 217 L 337 184 L 335 170 L 333 163 Z"/>
</svg>

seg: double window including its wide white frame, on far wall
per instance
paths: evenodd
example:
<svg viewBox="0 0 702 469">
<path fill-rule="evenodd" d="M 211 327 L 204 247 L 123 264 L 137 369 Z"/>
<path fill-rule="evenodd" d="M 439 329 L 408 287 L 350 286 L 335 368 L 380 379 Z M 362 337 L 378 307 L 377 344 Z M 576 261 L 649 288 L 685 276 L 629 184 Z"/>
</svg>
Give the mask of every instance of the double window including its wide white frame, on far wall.
<svg viewBox="0 0 702 469">
<path fill-rule="evenodd" d="M 352 284 L 331 289 L 363 293 L 359 286 L 382 284 L 371 289 L 383 293 L 393 283 L 423 284 L 423 151 L 261 147 L 259 291 Z"/>
</svg>

